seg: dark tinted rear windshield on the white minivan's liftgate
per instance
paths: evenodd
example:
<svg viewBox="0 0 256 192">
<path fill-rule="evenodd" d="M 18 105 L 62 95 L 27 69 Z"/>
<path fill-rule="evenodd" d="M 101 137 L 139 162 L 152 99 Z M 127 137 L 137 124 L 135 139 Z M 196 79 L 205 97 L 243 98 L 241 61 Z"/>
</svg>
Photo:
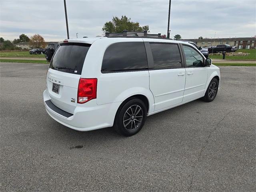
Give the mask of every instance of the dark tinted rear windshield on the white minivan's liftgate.
<svg viewBox="0 0 256 192">
<path fill-rule="evenodd" d="M 66 73 L 82 73 L 84 59 L 90 48 L 85 43 L 64 43 L 54 53 L 50 68 Z"/>
</svg>

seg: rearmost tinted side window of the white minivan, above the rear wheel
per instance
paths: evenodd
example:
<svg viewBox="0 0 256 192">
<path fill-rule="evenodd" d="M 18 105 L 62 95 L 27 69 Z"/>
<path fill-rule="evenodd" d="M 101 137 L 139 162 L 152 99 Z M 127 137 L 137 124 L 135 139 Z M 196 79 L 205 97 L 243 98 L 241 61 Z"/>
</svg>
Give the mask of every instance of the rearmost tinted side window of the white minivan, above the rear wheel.
<svg viewBox="0 0 256 192">
<path fill-rule="evenodd" d="M 143 70 L 148 60 L 143 42 L 120 42 L 110 45 L 103 57 L 102 72 Z"/>
</svg>

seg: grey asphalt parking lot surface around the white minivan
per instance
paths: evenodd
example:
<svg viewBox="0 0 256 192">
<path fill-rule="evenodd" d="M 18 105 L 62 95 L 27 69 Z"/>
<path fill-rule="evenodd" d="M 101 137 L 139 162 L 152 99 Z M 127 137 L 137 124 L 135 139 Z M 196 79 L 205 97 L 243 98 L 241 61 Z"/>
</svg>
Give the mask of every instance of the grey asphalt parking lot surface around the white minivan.
<svg viewBox="0 0 256 192">
<path fill-rule="evenodd" d="M 149 116 L 132 137 L 50 118 L 47 68 L 0 63 L 0 191 L 256 191 L 256 67 L 221 67 L 213 102 Z"/>
</svg>

